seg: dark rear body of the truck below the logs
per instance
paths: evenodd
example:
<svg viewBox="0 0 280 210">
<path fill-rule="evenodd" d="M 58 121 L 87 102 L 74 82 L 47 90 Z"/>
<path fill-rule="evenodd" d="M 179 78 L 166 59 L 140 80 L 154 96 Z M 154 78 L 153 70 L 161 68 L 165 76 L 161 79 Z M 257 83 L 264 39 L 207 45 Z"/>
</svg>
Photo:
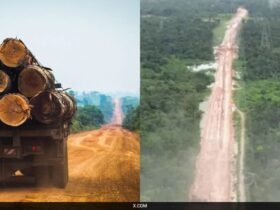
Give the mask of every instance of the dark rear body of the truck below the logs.
<svg viewBox="0 0 280 210">
<path fill-rule="evenodd" d="M 44 125 L 31 120 L 19 127 L 1 124 L 0 182 L 32 177 L 38 185 L 53 183 L 64 188 L 68 182 L 69 124 Z"/>
</svg>

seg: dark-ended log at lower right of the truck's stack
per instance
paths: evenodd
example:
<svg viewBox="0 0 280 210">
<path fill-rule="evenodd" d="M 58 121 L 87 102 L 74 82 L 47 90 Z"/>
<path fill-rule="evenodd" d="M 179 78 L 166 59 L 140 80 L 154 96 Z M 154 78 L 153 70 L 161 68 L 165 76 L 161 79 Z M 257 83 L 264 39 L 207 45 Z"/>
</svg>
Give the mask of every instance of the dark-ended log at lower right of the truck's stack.
<svg viewBox="0 0 280 210">
<path fill-rule="evenodd" d="M 75 102 L 63 92 L 40 92 L 30 100 L 33 106 L 31 114 L 43 124 L 70 120 L 76 110 Z"/>
</svg>

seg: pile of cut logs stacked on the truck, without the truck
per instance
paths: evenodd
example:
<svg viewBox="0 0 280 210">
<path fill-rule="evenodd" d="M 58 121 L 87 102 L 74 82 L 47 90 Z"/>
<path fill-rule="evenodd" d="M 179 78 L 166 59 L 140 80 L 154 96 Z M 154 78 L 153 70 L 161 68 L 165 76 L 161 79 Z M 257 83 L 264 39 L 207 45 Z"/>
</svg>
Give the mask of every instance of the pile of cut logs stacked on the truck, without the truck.
<svg viewBox="0 0 280 210">
<path fill-rule="evenodd" d="M 18 39 L 0 45 L 0 121 L 20 126 L 27 120 L 43 124 L 70 121 L 75 100 L 57 90 L 52 70 L 40 65 Z"/>
</svg>

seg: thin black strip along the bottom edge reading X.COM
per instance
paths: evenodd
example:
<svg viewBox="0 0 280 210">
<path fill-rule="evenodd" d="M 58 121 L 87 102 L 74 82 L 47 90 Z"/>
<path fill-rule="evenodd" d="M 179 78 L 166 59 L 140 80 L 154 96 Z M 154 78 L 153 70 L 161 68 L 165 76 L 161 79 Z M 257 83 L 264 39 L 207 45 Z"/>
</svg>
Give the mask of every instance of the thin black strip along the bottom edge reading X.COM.
<svg viewBox="0 0 280 210">
<path fill-rule="evenodd" d="M 275 203 L 162 203 L 162 202 L 140 202 L 140 203 L 0 203 L 0 210 L 280 210 L 280 202 Z"/>
</svg>

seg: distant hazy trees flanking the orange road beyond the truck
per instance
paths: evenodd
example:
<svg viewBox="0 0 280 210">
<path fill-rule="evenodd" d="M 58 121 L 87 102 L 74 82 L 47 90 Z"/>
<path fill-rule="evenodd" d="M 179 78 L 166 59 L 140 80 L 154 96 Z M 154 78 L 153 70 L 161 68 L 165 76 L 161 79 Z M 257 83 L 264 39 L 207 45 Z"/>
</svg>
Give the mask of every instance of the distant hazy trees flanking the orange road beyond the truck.
<svg viewBox="0 0 280 210">
<path fill-rule="evenodd" d="M 110 123 L 113 115 L 113 96 L 97 91 L 79 92 L 69 91 L 77 102 L 77 113 L 72 122 L 73 133 L 99 128 Z M 139 130 L 139 98 L 135 96 L 122 96 L 122 111 L 125 115 L 124 127 L 133 131 Z"/>
</svg>

